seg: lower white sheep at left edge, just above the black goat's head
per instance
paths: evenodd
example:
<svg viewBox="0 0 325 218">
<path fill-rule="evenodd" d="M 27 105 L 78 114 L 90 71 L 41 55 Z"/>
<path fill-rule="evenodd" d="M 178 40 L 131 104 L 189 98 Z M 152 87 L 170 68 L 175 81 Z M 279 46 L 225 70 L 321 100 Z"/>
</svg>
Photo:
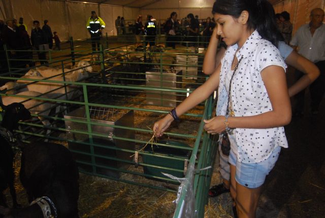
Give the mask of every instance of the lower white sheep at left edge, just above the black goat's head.
<svg viewBox="0 0 325 218">
<path fill-rule="evenodd" d="M 31 97 L 44 97 L 48 98 L 46 94 L 42 94 L 40 92 L 35 92 L 35 91 L 23 91 L 19 93 L 15 93 L 14 88 L 16 87 L 16 83 L 14 82 L 8 82 L 4 86 L 0 87 L 0 90 L 9 90 L 6 92 L 6 94 L 16 94 L 16 95 L 25 95 L 25 96 L 31 96 Z M 43 100 L 38 100 L 38 99 L 30 99 L 30 98 L 24 98 L 24 97 L 14 97 L 14 96 L 4 96 L 2 95 L 2 102 L 4 105 L 9 105 L 14 102 L 22 103 L 27 110 L 31 114 L 36 114 L 36 115 L 43 115 L 43 116 L 48 116 L 51 111 L 51 107 L 53 106 L 52 103 L 43 101 Z M 24 101 L 24 102 L 22 102 Z M 50 122 L 46 120 L 46 118 L 43 117 L 38 117 L 40 121 L 44 124 L 44 126 L 50 126 Z M 47 130 L 46 134 L 49 134 L 50 130 Z"/>
</svg>

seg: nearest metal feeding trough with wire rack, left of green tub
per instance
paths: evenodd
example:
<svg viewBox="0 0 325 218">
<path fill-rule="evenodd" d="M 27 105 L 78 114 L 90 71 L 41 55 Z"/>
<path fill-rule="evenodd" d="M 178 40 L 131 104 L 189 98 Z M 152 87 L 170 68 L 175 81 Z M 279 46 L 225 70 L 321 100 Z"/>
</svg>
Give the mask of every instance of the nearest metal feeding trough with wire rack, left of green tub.
<svg viewBox="0 0 325 218">
<path fill-rule="evenodd" d="M 127 110 L 116 110 L 109 107 L 89 107 L 90 121 L 98 124 L 109 124 L 125 127 L 134 127 L 134 112 Z M 86 121 L 85 106 L 78 108 L 77 110 L 64 115 L 66 119 Z M 112 167 L 117 169 L 126 169 L 129 164 L 118 161 L 116 159 L 122 159 L 131 161 L 130 153 L 122 152 L 110 148 L 134 150 L 135 142 L 125 141 L 120 139 L 113 139 L 112 136 L 122 138 L 135 138 L 134 130 L 127 130 L 121 128 L 107 127 L 101 125 L 91 125 L 92 133 L 104 134 L 105 137 L 89 136 L 88 134 L 75 133 L 71 130 L 81 130 L 88 132 L 87 124 L 77 123 L 72 120 L 65 121 L 66 129 L 68 130 L 67 137 L 69 149 L 73 152 L 74 157 L 78 163 L 79 168 L 82 171 L 97 173 L 102 175 L 108 175 L 113 177 L 119 177 L 120 173 L 117 170 L 107 169 L 96 165 Z M 83 144 L 87 142 L 92 144 Z M 97 146 L 99 145 L 99 146 Z M 102 157 L 93 156 L 100 155 Z M 103 157 L 113 158 L 105 159 Z"/>
</svg>

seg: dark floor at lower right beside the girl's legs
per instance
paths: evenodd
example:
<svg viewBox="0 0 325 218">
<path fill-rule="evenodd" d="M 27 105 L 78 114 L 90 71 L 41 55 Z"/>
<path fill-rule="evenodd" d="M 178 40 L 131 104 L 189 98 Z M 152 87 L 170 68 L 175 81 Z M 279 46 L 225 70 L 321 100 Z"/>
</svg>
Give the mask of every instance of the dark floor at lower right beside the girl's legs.
<svg viewBox="0 0 325 218">
<path fill-rule="evenodd" d="M 289 148 L 282 149 L 262 194 L 277 212 L 258 217 L 325 216 L 324 112 L 323 99 L 318 116 L 293 118 L 285 127 Z"/>
</svg>

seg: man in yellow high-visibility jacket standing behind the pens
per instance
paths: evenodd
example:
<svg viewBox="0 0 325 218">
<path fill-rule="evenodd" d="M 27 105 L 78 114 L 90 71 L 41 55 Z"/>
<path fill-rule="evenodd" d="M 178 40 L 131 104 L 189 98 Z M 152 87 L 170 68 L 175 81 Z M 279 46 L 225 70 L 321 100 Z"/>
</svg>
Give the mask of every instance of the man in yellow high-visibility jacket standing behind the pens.
<svg viewBox="0 0 325 218">
<path fill-rule="evenodd" d="M 96 15 L 96 12 L 92 11 L 86 27 L 90 33 L 92 51 L 96 51 L 96 44 L 97 49 L 100 50 L 102 29 L 105 28 L 104 21 Z"/>
</svg>

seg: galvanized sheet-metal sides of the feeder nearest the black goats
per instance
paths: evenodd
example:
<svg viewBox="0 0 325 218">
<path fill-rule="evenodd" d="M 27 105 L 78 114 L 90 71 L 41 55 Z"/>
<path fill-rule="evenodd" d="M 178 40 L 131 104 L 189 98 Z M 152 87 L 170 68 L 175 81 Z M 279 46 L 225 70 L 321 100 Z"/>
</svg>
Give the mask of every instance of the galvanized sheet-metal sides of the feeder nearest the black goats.
<svg viewBox="0 0 325 218">
<path fill-rule="evenodd" d="M 112 110 L 112 108 L 111 108 Z M 116 112 L 116 111 L 115 111 Z M 101 120 L 102 117 L 102 112 L 99 113 L 99 115 L 95 116 L 95 119 L 91 119 L 91 122 L 94 123 L 101 123 L 101 124 L 109 124 L 109 125 L 119 125 L 119 126 L 127 126 L 127 127 L 134 127 L 134 113 L 133 111 L 129 111 L 126 114 L 123 114 L 120 116 L 119 119 L 113 118 L 111 120 L 107 119 L 106 120 Z M 82 106 L 78 108 L 77 110 L 64 115 L 65 119 L 74 119 L 74 120 L 81 120 L 81 121 L 86 121 L 85 118 L 85 107 Z M 72 120 L 67 120 L 65 121 L 66 124 L 66 129 L 68 130 L 67 133 L 67 138 L 70 140 L 76 140 L 76 141 L 83 141 L 83 142 L 90 142 L 89 141 L 89 136 L 87 134 L 81 134 L 81 133 L 73 133 L 69 130 L 82 130 L 82 131 L 88 131 L 87 129 L 87 124 L 81 124 L 81 123 L 76 123 L 73 122 Z M 101 144 L 103 146 L 107 147 L 117 147 L 117 148 L 123 148 L 123 149 L 128 149 L 128 150 L 134 150 L 135 149 L 135 142 L 131 141 L 124 141 L 124 140 L 116 140 L 113 139 L 110 136 L 117 136 L 117 137 L 124 137 L 124 138 L 135 138 L 135 132 L 134 130 L 126 130 L 126 129 L 120 129 L 120 128 L 114 128 L 114 127 L 106 127 L 106 126 L 100 126 L 100 125 L 91 125 L 91 130 L 93 133 L 99 133 L 99 134 L 104 134 L 106 135 L 105 137 L 99 137 L 99 136 L 93 136 L 93 142 L 96 144 Z M 76 150 L 79 152 L 86 152 L 89 155 L 84 155 L 84 154 L 78 154 L 74 153 L 74 156 L 76 160 L 78 161 L 84 161 L 91 163 L 91 150 L 90 146 L 86 144 L 81 144 L 78 142 L 68 142 L 69 149 L 71 150 Z M 131 161 L 131 158 L 129 157 L 129 153 L 126 152 L 121 152 L 121 151 L 116 151 L 112 149 L 106 149 L 106 148 L 99 148 L 99 147 L 93 147 L 94 149 L 94 154 L 95 155 L 102 155 L 102 156 L 107 156 L 107 157 L 114 157 L 114 158 L 119 158 L 122 160 L 129 160 Z M 105 158 L 99 158 L 95 157 L 95 163 L 100 164 L 103 166 L 109 166 L 109 167 L 114 167 L 114 168 L 119 168 L 119 169 L 126 169 L 129 164 L 115 161 L 115 160 L 108 160 Z M 92 167 L 90 165 L 86 164 L 78 164 L 78 166 L 85 170 L 92 172 Z M 114 177 L 119 177 L 120 173 L 115 170 L 108 170 L 105 168 L 101 167 L 96 167 L 96 173 L 103 174 L 103 175 L 108 175 L 108 176 L 114 176 Z"/>
</svg>

